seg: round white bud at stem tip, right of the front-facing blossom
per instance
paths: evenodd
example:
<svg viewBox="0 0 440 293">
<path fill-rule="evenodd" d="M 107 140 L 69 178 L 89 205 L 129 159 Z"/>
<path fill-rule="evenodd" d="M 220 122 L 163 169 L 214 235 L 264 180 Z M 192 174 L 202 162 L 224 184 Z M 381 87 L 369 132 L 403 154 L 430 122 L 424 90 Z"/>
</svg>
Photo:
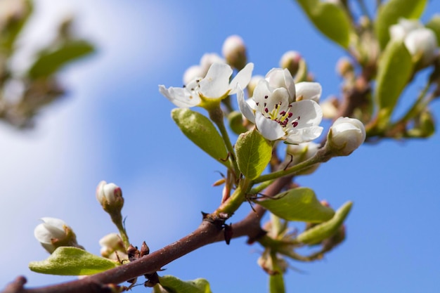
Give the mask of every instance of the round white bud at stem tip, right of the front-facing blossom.
<svg viewBox="0 0 440 293">
<path fill-rule="evenodd" d="M 330 127 L 326 148 L 339 156 L 350 155 L 365 141 L 365 126 L 358 119 L 339 117 Z"/>
</svg>

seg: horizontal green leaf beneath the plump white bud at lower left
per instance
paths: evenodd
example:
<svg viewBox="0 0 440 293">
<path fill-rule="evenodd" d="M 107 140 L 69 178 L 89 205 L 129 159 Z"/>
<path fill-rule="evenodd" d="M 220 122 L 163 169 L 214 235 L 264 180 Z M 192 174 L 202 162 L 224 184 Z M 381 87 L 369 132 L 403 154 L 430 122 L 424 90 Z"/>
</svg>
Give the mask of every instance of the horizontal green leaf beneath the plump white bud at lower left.
<svg viewBox="0 0 440 293">
<path fill-rule="evenodd" d="M 104 259 L 77 247 L 58 247 L 44 261 L 29 263 L 31 271 L 50 275 L 93 275 L 119 266 L 116 261 Z"/>
</svg>

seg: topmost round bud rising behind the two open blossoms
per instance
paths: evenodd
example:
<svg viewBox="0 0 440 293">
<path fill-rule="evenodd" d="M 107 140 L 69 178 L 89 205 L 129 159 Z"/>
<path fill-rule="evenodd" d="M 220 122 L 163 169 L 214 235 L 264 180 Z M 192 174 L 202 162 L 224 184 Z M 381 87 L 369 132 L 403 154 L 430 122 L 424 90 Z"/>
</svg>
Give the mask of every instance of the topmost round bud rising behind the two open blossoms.
<svg viewBox="0 0 440 293">
<path fill-rule="evenodd" d="M 223 53 L 226 63 L 237 70 L 242 70 L 247 63 L 245 42 L 236 34 L 224 41 L 221 53 Z"/>
</svg>

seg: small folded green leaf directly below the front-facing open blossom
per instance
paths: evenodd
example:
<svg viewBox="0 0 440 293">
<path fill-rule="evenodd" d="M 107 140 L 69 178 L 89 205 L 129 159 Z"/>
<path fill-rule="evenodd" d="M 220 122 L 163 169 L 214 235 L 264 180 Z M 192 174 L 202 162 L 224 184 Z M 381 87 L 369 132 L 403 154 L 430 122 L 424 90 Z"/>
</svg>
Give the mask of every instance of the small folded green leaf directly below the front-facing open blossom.
<svg viewBox="0 0 440 293">
<path fill-rule="evenodd" d="M 241 173 L 252 180 L 266 169 L 272 157 L 272 145 L 256 129 L 252 129 L 238 136 L 235 154 Z"/>
</svg>

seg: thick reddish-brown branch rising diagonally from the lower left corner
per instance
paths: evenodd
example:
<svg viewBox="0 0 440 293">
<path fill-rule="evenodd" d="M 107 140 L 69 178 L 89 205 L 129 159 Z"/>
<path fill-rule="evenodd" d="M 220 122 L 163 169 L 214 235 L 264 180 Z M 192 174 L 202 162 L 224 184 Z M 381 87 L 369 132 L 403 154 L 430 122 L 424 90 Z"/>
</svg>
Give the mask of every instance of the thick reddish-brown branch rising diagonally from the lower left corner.
<svg viewBox="0 0 440 293">
<path fill-rule="evenodd" d="M 276 195 L 282 190 L 285 185 L 289 184 L 292 177 L 287 176 L 280 178 L 273 182 L 267 189 L 265 194 L 268 197 Z M 232 225 L 233 238 L 247 236 L 249 243 L 257 240 L 258 237 L 265 234 L 261 229 L 260 221 L 266 210 L 257 205 L 254 211 L 251 211 L 245 219 Z M 98 293 L 108 292 L 107 285 L 120 284 L 127 280 L 134 279 L 140 275 L 154 273 L 160 268 L 179 259 L 181 256 L 193 252 L 195 249 L 209 245 L 214 242 L 224 241 L 224 233 L 221 226 L 210 221 L 202 221 L 200 226 L 185 237 L 181 238 L 162 249 L 159 249 L 152 254 L 145 255 L 136 261 L 131 261 L 117 268 L 91 275 L 79 280 L 60 283 L 58 285 L 49 285 L 47 287 L 30 288 L 23 287 L 26 279 L 18 277 L 11 282 L 1 293 Z"/>
</svg>

